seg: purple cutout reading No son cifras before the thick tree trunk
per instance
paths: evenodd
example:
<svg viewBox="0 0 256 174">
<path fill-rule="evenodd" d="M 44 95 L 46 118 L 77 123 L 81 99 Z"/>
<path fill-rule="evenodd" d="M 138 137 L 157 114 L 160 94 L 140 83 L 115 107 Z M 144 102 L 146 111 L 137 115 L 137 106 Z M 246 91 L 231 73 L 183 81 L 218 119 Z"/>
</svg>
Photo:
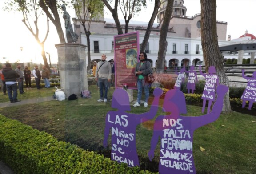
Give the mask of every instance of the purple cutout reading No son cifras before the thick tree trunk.
<svg viewBox="0 0 256 174">
<path fill-rule="evenodd" d="M 208 100 L 207 113 L 209 113 L 211 110 L 212 102 L 214 102 L 215 100 L 215 90 L 216 90 L 216 86 L 219 85 L 219 79 L 218 79 L 218 75 L 216 75 L 216 70 L 214 66 L 209 67 L 209 71 L 208 71 L 209 74 L 204 74 L 202 72 L 201 65 L 199 66 L 199 71 L 200 71 L 200 74 L 203 75 L 205 78 L 204 91 L 201 98 L 203 99 L 202 113 L 204 113 L 206 100 Z"/>
</svg>

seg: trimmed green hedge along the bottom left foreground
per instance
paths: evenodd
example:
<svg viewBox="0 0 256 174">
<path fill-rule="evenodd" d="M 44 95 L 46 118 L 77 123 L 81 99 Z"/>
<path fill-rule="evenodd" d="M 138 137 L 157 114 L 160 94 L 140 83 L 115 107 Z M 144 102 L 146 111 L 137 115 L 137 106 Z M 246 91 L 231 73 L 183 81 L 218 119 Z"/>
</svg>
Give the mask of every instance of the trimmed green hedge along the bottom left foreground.
<svg viewBox="0 0 256 174">
<path fill-rule="evenodd" d="M 0 158 L 17 174 L 152 174 L 0 115 Z"/>
</svg>

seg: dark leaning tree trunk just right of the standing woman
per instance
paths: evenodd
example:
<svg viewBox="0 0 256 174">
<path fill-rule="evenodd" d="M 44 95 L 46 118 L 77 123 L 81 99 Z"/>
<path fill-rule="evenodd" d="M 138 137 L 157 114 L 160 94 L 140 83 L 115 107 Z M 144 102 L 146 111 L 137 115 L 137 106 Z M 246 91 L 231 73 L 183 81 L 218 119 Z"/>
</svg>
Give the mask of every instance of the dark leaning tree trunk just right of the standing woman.
<svg viewBox="0 0 256 174">
<path fill-rule="evenodd" d="M 159 37 L 159 50 L 157 56 L 157 65 L 156 71 L 157 73 L 162 73 L 164 71 L 164 60 L 167 51 L 167 32 L 169 29 L 169 24 L 172 16 L 172 7 L 174 0 L 168 0 L 166 11 L 164 14 L 164 21 L 160 29 L 160 37 Z"/>
</svg>

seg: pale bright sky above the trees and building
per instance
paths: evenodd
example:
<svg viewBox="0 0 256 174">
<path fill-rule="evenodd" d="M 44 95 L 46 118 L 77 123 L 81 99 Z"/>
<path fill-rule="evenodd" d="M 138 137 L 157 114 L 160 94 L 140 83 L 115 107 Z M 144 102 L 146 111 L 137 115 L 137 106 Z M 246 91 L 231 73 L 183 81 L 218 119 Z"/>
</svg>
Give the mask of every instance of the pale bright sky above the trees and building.
<svg viewBox="0 0 256 174">
<path fill-rule="evenodd" d="M 19 61 L 43 63 L 40 55 L 40 47 L 32 34 L 28 31 L 22 23 L 22 14 L 19 12 L 3 11 L 4 2 L 8 0 L 0 0 L 0 62 L 5 63 Z M 154 1 L 154 0 L 153 0 Z M 227 36 L 231 35 L 231 39 L 236 39 L 243 35 L 246 30 L 248 33 L 256 35 L 255 24 L 255 7 L 256 0 L 216 0 L 217 2 L 217 20 L 228 22 Z M 154 4 L 148 4 L 147 9 L 143 9 L 140 14 L 135 16 L 132 20 L 149 21 Z M 200 0 L 184 0 L 184 6 L 187 8 L 186 16 L 194 16 L 200 13 Z M 67 8 L 67 12 L 71 17 L 75 17 L 75 12 L 72 8 Z M 145 15 L 148 14 L 148 15 Z M 119 15 L 120 18 L 122 15 Z M 112 18 L 108 9 L 104 9 L 104 17 Z M 60 13 L 60 20 L 64 25 L 62 12 Z M 51 23 L 51 21 L 50 21 Z M 45 22 L 40 22 L 41 36 L 45 34 Z M 64 28 L 64 26 L 62 27 Z M 52 64 L 57 63 L 57 50 L 55 44 L 60 43 L 56 28 L 53 24 L 50 25 L 50 32 L 45 43 L 45 51 L 51 54 Z M 41 37 L 41 40 L 43 38 Z M 20 47 L 23 47 L 22 51 Z M 48 57 L 48 55 L 46 55 Z"/>
</svg>

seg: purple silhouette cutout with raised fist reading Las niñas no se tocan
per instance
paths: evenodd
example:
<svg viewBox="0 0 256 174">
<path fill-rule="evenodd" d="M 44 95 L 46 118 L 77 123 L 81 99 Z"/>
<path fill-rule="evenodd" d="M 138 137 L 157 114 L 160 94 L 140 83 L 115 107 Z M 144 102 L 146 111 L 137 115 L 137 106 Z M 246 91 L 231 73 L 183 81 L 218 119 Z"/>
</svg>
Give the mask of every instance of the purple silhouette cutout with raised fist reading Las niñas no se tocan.
<svg viewBox="0 0 256 174">
<path fill-rule="evenodd" d="M 129 97 L 123 89 L 116 89 L 113 93 L 112 107 L 118 111 L 108 111 L 105 120 L 103 146 L 108 145 L 108 135 L 111 129 L 112 150 L 111 159 L 117 162 L 127 163 L 128 166 L 140 166 L 136 150 L 136 127 L 142 122 L 153 119 L 158 110 L 158 102 L 163 91 L 160 88 L 154 90 L 154 100 L 149 112 L 132 114 L 130 111 Z"/>
</svg>

